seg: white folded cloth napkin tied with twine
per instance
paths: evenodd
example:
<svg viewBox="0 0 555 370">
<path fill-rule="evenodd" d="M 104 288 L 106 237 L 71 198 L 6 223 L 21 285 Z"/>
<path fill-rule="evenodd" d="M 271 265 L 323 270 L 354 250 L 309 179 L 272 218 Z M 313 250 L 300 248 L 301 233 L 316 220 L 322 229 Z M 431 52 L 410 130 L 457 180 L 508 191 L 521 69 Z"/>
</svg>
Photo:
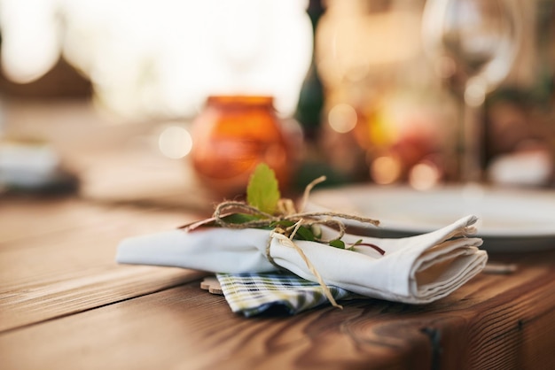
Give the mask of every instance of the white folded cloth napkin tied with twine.
<svg viewBox="0 0 555 370">
<path fill-rule="evenodd" d="M 446 297 L 486 265 L 479 250 L 476 217 L 467 216 L 434 232 L 398 239 L 345 235 L 345 243 L 377 245 L 378 251 L 358 245 L 354 251 L 326 244 L 294 240 L 325 284 L 396 302 L 425 304 Z M 332 230 L 324 228 L 325 234 Z M 213 273 L 276 271 L 266 257 L 270 231 L 255 228 L 199 227 L 131 237 L 118 246 L 116 260 L 124 264 L 179 266 Z M 270 256 L 278 266 L 309 281 L 317 281 L 306 262 L 283 240 L 272 238 Z"/>
</svg>

